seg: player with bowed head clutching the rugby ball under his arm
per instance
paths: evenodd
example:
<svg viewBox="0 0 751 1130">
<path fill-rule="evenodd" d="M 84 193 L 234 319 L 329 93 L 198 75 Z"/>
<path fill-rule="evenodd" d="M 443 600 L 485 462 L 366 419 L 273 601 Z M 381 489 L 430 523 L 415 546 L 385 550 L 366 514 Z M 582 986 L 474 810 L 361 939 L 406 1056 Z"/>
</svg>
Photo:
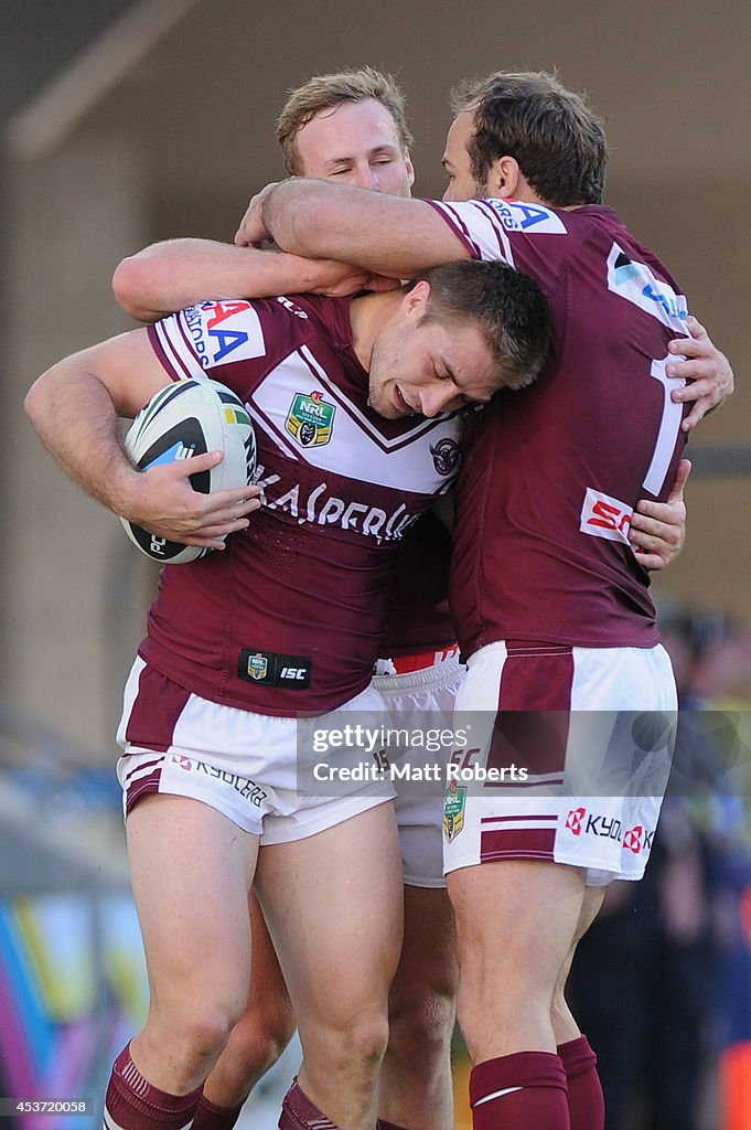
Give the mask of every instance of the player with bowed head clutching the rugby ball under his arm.
<svg viewBox="0 0 751 1130">
<path fill-rule="evenodd" d="M 90 495 L 217 550 L 163 570 L 125 688 L 119 776 L 150 1006 L 113 1067 L 110 1130 L 192 1122 L 247 1003 L 254 879 L 304 1049 L 280 1125 L 374 1125 L 401 947 L 391 792 L 306 788 L 315 754 L 297 719 L 382 710 L 369 683 L 393 548 L 455 476 L 434 447 L 460 443 L 468 405 L 532 381 L 548 342 L 535 282 L 454 263 L 351 301 L 201 303 L 59 362 L 27 394 Z M 191 489 L 216 452 L 129 462 L 119 417 L 184 376 L 248 406 L 254 492 Z"/>
</svg>

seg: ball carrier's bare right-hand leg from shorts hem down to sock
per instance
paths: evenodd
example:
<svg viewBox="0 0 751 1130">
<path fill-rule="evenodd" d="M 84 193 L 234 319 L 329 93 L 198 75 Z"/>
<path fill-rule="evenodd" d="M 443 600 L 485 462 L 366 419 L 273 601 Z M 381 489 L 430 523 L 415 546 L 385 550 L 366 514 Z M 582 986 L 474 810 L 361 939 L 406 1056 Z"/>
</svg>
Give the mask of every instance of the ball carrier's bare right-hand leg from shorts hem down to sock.
<svg viewBox="0 0 751 1130">
<path fill-rule="evenodd" d="M 393 806 L 265 846 L 256 887 L 297 1016 L 302 1086 L 338 1125 L 375 1120 L 372 1090 L 402 942 Z"/>
</svg>

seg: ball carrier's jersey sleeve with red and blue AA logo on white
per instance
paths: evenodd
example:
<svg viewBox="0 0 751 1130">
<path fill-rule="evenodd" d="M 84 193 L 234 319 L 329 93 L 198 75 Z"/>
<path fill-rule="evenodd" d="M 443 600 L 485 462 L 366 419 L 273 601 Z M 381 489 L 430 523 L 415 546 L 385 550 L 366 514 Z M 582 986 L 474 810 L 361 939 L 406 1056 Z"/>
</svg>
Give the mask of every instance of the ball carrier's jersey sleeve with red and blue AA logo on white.
<svg viewBox="0 0 751 1130">
<path fill-rule="evenodd" d="M 253 370 L 261 376 L 268 364 L 273 336 L 263 312 L 263 303 L 203 302 L 149 325 L 149 340 L 173 381 L 210 377 L 233 388 L 242 363 L 247 386 Z"/>
</svg>

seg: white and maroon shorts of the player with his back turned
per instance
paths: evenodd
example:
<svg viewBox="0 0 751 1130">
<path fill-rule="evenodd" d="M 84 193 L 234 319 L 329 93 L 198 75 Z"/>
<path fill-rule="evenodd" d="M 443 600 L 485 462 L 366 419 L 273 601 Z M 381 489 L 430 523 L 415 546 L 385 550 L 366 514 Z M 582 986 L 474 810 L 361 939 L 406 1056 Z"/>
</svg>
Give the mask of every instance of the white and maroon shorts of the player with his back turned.
<svg viewBox="0 0 751 1130">
<path fill-rule="evenodd" d="M 584 868 L 588 886 L 641 878 L 678 721 L 661 645 L 492 643 L 456 710 L 475 748 L 446 791 L 446 872 L 538 859 Z"/>
</svg>

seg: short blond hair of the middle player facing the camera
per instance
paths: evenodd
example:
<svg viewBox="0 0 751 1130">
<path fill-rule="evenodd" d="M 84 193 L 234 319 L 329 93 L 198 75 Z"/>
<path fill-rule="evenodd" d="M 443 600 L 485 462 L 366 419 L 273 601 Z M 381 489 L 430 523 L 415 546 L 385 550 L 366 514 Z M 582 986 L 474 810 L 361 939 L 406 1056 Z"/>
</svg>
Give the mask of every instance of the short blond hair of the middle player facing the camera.
<svg viewBox="0 0 751 1130">
<path fill-rule="evenodd" d="M 407 122 L 404 95 L 391 75 L 384 75 L 373 67 L 316 75 L 290 92 L 277 119 L 277 141 L 281 146 L 285 168 L 289 175 L 302 175 L 297 136 L 304 125 L 322 110 L 338 106 L 342 102 L 365 102 L 367 98 L 375 98 L 385 106 L 394 119 L 399 140 L 404 149 L 409 149 L 412 134 Z"/>
</svg>

